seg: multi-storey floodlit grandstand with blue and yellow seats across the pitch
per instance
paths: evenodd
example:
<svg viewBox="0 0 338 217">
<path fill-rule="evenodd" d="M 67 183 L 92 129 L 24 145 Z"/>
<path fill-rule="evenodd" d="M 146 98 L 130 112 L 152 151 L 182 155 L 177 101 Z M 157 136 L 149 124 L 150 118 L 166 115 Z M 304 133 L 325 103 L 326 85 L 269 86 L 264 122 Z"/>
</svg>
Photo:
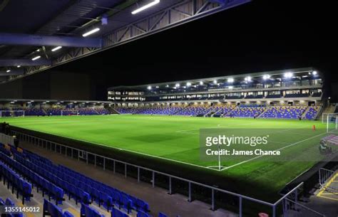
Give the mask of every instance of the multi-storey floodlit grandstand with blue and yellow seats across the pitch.
<svg viewBox="0 0 338 217">
<path fill-rule="evenodd" d="M 108 89 L 122 114 L 317 119 L 322 78 L 313 68 Z M 222 109 L 221 109 L 222 108 Z"/>
</svg>

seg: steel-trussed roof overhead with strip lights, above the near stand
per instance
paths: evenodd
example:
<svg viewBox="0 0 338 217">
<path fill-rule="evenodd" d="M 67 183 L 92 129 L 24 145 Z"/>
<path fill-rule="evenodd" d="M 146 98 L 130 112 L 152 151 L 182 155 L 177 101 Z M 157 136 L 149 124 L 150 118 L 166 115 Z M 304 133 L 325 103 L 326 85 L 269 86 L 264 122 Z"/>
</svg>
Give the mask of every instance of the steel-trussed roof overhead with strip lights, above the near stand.
<svg viewBox="0 0 338 217">
<path fill-rule="evenodd" d="M 158 4 L 132 14 L 155 1 Z M 4 0 L 0 2 L 0 82 L 38 73 L 248 1 Z M 88 37 L 84 35 L 91 31 Z"/>
</svg>

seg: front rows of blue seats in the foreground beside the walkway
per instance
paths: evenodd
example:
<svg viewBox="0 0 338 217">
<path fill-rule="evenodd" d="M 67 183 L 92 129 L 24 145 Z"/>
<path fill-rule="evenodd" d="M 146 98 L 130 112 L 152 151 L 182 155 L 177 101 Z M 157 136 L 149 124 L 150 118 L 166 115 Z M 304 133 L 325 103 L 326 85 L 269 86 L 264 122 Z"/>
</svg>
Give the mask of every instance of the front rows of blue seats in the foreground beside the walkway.
<svg viewBox="0 0 338 217">
<path fill-rule="evenodd" d="M 128 213 L 131 209 L 145 212 L 149 211 L 148 203 L 130 196 L 123 191 L 113 189 L 110 186 L 106 186 L 101 182 L 78 174 L 76 171 L 64 166 L 55 166 L 51 164 L 48 159 L 41 161 L 41 159 L 43 159 L 42 157 L 36 157 L 36 154 L 31 154 L 26 150 L 24 150 L 24 154 L 15 152 L 15 150 L 12 151 L 14 152 L 14 159 L 16 159 L 16 161 L 3 153 L 0 153 L 1 160 L 9 162 L 9 164 L 21 171 L 22 174 L 29 174 L 28 167 L 36 173 L 35 176 L 39 174 L 43 178 L 48 179 L 48 182 L 51 181 L 50 185 L 52 186 L 48 186 L 47 184 L 43 184 L 43 181 L 39 182 L 31 179 L 38 188 L 40 187 L 43 191 L 48 191 L 49 195 L 55 197 L 56 203 L 62 202 L 64 190 L 66 194 L 68 194 L 68 199 L 73 198 L 76 200 L 76 203 L 81 201 L 81 203 L 88 204 L 92 199 L 96 201 L 99 206 L 105 206 L 107 210 L 109 210 L 113 204 L 116 204 Z M 29 159 L 29 161 L 25 158 Z M 42 184 L 40 184 L 41 182 Z M 61 189 L 57 186 L 61 187 Z"/>
</svg>

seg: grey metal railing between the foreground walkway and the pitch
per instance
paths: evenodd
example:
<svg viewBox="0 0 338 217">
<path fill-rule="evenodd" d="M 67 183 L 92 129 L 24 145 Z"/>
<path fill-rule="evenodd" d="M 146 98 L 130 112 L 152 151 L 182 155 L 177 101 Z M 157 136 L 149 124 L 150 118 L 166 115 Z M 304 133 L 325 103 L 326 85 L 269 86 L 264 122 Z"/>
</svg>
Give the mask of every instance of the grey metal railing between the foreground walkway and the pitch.
<svg viewBox="0 0 338 217">
<path fill-rule="evenodd" d="M 141 170 L 148 171 L 148 172 L 151 173 L 151 181 L 150 182 L 153 185 L 153 187 L 155 187 L 155 184 L 156 184 L 155 183 L 155 176 L 157 176 L 157 175 L 166 176 L 166 177 L 168 177 L 168 194 L 172 194 L 172 192 L 173 192 L 173 179 L 183 181 L 183 182 L 188 184 L 188 201 L 193 200 L 193 198 L 192 198 L 192 196 L 193 196 L 192 185 L 203 187 L 205 189 L 210 190 L 210 193 L 211 193 L 210 194 L 211 195 L 210 196 L 210 201 L 211 201 L 210 205 L 211 205 L 212 210 L 215 210 L 215 202 L 216 202 L 215 201 L 215 193 L 216 192 L 222 192 L 224 194 L 227 194 L 228 196 L 235 196 L 237 198 L 238 215 L 240 217 L 242 217 L 244 215 L 244 213 L 243 213 L 243 210 L 244 210 L 243 202 L 244 201 L 251 201 L 253 203 L 257 203 L 257 204 L 260 204 L 260 205 L 267 206 L 267 209 L 270 210 L 272 217 L 277 217 L 277 208 L 280 208 L 280 211 L 282 211 L 282 216 L 287 217 L 287 212 L 285 212 L 285 204 L 287 202 L 290 202 L 290 199 L 288 199 L 288 197 L 290 195 L 295 195 L 293 197 L 293 199 L 294 199 L 294 202 L 297 203 L 297 197 L 298 197 L 298 194 L 299 194 L 299 189 L 301 189 L 301 187 L 303 186 L 303 183 L 298 184 L 297 186 L 295 186 L 294 189 L 292 189 L 287 194 L 282 196 L 275 203 L 270 203 L 270 202 L 267 202 L 267 201 L 262 201 L 260 199 L 254 199 L 250 196 L 245 196 L 245 195 L 242 195 L 242 194 L 234 193 L 232 191 L 227 191 L 225 189 L 219 189 L 215 186 L 209 186 L 209 185 L 206 185 L 206 184 L 199 183 L 197 181 L 192 181 L 192 180 L 185 179 L 185 178 L 182 178 L 182 177 L 173 176 L 171 174 L 166 174 L 166 173 L 163 173 L 161 171 L 156 171 L 156 170 L 149 169 L 149 168 L 146 168 L 146 167 L 143 167 L 143 166 L 130 164 L 128 162 L 123 162 L 123 161 L 118 160 L 118 159 L 112 159 L 112 158 L 109 158 L 109 157 L 104 157 L 104 156 L 101 156 L 101 155 L 98 155 L 98 154 L 95 154 L 95 153 L 92 153 L 92 152 L 87 152 L 87 151 L 84 151 L 84 150 L 81 150 L 81 149 L 76 149 L 74 147 L 69 147 L 69 146 L 64 145 L 64 144 L 51 142 L 51 141 L 48 141 L 46 139 L 41 139 L 39 137 L 31 136 L 30 134 L 25 134 L 25 133 L 16 132 L 16 131 L 12 131 L 12 132 L 14 132 L 14 134 L 16 134 L 17 137 L 19 137 L 19 139 L 21 141 L 29 142 L 31 144 L 45 148 L 47 150 L 51 150 L 53 152 L 58 152 L 59 154 L 64 154 L 66 157 L 77 158 L 78 161 L 84 160 L 84 161 L 86 161 L 86 164 L 90 164 L 91 163 L 90 159 L 93 159 L 93 165 L 94 166 L 100 165 L 100 166 L 102 166 L 103 170 L 107 169 L 108 163 L 110 162 L 112 164 L 110 166 L 113 166 L 113 169 L 112 169 L 113 173 L 117 172 L 116 171 L 116 164 L 117 163 L 123 164 L 124 165 L 123 166 L 124 167 L 123 174 L 126 178 L 128 176 L 128 168 L 130 169 L 130 167 L 133 167 L 133 168 L 137 169 L 137 180 L 138 180 L 138 182 L 140 182 L 140 177 L 141 177 L 140 172 L 141 172 Z"/>
</svg>

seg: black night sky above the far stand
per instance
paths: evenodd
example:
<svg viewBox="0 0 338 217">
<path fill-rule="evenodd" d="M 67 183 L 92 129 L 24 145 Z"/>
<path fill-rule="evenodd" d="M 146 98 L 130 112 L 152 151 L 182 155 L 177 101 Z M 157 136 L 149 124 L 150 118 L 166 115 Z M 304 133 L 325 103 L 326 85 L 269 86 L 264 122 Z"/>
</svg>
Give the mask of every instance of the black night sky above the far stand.
<svg viewBox="0 0 338 217">
<path fill-rule="evenodd" d="M 338 1 L 252 1 L 63 65 L 113 85 L 313 66 L 337 82 Z"/>
</svg>

